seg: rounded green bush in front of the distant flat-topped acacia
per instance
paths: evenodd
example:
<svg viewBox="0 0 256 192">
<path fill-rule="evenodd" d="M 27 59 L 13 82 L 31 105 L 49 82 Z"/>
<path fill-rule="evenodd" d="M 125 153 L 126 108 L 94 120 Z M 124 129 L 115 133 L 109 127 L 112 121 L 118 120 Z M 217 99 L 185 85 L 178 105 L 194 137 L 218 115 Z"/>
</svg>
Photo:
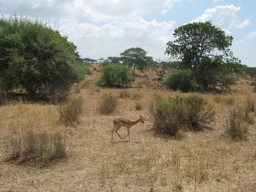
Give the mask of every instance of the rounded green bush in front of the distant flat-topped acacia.
<svg viewBox="0 0 256 192">
<path fill-rule="evenodd" d="M 131 81 L 132 75 L 129 69 L 120 64 L 108 64 L 102 68 L 100 84 L 122 86 L 129 84 Z"/>
</svg>

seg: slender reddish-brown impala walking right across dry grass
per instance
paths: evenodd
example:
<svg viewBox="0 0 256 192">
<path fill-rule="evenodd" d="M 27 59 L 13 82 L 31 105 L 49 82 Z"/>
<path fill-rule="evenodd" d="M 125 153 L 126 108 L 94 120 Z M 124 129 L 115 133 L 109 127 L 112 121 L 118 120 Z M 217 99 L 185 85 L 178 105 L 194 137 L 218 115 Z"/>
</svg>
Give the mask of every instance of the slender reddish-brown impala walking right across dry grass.
<svg viewBox="0 0 256 192">
<path fill-rule="evenodd" d="M 140 118 L 136 121 L 131 121 L 131 120 L 128 120 L 128 119 L 115 119 L 114 121 L 114 128 L 112 129 L 111 131 L 111 140 L 113 140 L 113 133 L 116 132 L 116 134 L 118 134 L 118 130 L 121 128 L 121 127 L 126 127 L 127 128 L 127 132 L 128 134 L 126 136 L 129 136 L 129 140 L 130 140 L 130 128 L 136 124 L 138 124 L 139 122 L 143 123 L 144 124 L 144 121 L 142 119 L 142 116 L 140 115 Z M 121 139 L 121 136 L 118 134 L 119 138 Z M 126 138 L 126 136 L 124 138 Z M 124 139 L 122 138 L 122 139 Z"/>
</svg>

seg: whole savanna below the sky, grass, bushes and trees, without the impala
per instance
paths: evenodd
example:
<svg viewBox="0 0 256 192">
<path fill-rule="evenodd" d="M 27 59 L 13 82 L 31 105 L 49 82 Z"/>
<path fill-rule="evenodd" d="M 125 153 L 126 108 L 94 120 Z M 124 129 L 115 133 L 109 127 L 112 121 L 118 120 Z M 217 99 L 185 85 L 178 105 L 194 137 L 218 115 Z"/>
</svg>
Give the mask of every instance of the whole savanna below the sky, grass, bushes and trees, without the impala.
<svg viewBox="0 0 256 192">
<path fill-rule="evenodd" d="M 142 48 L 80 58 L 26 17 L 0 29 L 2 191 L 255 190 L 254 70 L 211 22 L 177 28 L 156 61 Z M 131 140 L 110 140 L 114 119 L 140 115 Z"/>
</svg>

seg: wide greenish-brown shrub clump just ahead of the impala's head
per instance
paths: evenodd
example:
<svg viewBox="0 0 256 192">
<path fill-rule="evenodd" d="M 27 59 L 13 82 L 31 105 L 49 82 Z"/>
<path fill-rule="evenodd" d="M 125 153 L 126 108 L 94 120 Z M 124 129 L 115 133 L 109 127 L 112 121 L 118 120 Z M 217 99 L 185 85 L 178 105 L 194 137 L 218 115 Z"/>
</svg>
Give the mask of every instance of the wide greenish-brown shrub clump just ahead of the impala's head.
<svg viewBox="0 0 256 192">
<path fill-rule="evenodd" d="M 200 130 L 202 125 L 211 125 L 215 110 L 198 95 L 177 96 L 168 102 L 152 103 L 148 116 L 157 132 L 177 138 L 182 128 Z"/>
</svg>

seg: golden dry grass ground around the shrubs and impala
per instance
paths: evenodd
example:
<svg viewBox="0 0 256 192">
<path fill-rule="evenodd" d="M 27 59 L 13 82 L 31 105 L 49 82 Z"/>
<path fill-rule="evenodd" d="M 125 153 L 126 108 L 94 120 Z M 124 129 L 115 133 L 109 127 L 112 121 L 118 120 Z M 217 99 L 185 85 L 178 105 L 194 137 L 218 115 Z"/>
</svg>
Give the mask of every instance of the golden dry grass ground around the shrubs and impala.
<svg viewBox="0 0 256 192">
<path fill-rule="evenodd" d="M 80 93 L 86 109 L 76 127 L 64 127 L 58 122 L 57 105 L 14 101 L 0 107 L 0 147 L 4 136 L 26 128 L 62 132 L 68 137 L 68 158 L 54 162 L 46 168 L 4 162 L 0 150 L 0 191 L 88 191 L 88 192 L 256 192 L 256 127 L 249 126 L 248 139 L 233 141 L 223 136 L 222 123 L 229 108 L 227 100 L 233 98 L 243 104 L 246 98 L 256 98 L 253 87 L 240 77 L 234 92 L 200 94 L 215 106 L 215 126 L 200 132 L 183 132 L 180 140 L 156 135 L 150 122 L 137 124 L 128 137 L 120 140 L 114 133 L 113 120 L 137 120 L 141 114 L 147 118 L 148 104 L 156 97 L 181 95 L 181 92 L 154 90 L 148 79 L 136 78 L 129 88 L 139 100 L 118 98 L 118 110 L 112 115 L 98 114 L 98 101 L 103 92 L 119 95 L 120 89 L 100 88 L 95 85 L 99 72 L 86 76 L 90 86 Z M 136 72 L 139 73 L 139 72 Z M 143 76 L 144 74 L 141 74 Z M 185 95 L 189 95 L 185 94 Z M 141 102 L 142 110 L 135 110 Z M 121 136 L 126 128 L 119 130 Z"/>
</svg>

